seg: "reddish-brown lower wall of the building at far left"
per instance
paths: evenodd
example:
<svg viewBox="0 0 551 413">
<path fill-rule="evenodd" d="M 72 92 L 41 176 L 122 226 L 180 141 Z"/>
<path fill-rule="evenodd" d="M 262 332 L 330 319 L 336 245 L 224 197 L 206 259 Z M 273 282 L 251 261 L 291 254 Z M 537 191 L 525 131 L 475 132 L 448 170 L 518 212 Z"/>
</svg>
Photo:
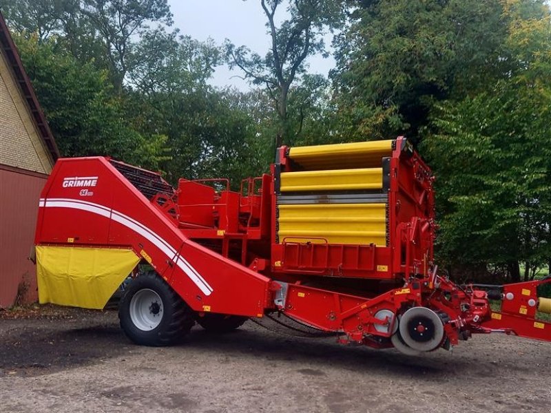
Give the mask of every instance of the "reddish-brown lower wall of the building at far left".
<svg viewBox="0 0 551 413">
<path fill-rule="evenodd" d="M 28 260 L 40 191 L 48 176 L 0 165 L 0 306 L 14 304 L 23 283 L 25 302 L 37 300 L 37 277 Z"/>
</svg>

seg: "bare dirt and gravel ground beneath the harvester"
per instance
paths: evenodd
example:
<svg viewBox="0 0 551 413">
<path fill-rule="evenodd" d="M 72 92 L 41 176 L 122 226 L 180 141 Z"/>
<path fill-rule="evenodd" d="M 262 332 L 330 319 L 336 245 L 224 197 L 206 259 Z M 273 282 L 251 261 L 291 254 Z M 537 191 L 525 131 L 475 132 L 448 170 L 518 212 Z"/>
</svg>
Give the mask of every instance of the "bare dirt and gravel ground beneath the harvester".
<svg viewBox="0 0 551 413">
<path fill-rule="evenodd" d="M 550 384 L 551 343 L 503 335 L 407 357 L 248 321 L 147 348 L 128 341 L 115 311 L 0 313 L 2 413 L 548 413 Z"/>
</svg>

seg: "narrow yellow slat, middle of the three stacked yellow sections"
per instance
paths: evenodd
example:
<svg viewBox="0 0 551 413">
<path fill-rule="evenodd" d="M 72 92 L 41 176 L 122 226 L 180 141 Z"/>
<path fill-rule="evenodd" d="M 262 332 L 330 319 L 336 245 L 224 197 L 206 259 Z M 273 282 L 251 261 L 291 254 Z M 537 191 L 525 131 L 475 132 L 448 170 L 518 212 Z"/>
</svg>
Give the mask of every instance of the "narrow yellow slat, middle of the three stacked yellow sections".
<svg viewBox="0 0 551 413">
<path fill-rule="evenodd" d="M 382 189 L 383 169 L 335 169 L 281 173 L 281 191 Z"/>
</svg>

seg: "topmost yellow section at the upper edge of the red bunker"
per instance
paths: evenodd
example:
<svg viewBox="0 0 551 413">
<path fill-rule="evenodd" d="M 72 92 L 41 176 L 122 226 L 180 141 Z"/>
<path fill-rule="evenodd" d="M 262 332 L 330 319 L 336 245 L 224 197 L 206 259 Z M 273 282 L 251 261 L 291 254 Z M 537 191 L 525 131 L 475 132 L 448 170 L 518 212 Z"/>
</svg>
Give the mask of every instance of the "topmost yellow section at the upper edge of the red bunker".
<svg viewBox="0 0 551 413">
<path fill-rule="evenodd" d="M 392 140 L 293 147 L 289 157 L 309 170 L 380 167 L 391 156 Z"/>
</svg>

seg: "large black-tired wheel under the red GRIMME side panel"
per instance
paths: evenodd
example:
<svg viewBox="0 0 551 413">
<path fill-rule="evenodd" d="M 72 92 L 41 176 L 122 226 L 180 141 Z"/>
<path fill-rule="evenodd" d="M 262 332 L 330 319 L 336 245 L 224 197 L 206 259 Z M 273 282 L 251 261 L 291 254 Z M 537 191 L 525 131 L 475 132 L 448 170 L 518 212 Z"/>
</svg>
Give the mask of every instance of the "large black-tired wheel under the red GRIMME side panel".
<svg viewBox="0 0 551 413">
<path fill-rule="evenodd" d="M 154 299 L 147 301 L 148 297 Z M 158 302 L 158 299 L 161 302 Z M 140 302 L 143 303 L 142 307 L 138 306 Z M 148 302 L 151 305 L 146 316 L 154 321 L 152 325 L 145 326 L 141 322 L 143 319 L 138 318 L 139 312 L 137 313 L 136 308 L 147 308 Z M 144 346 L 170 346 L 177 343 L 195 324 L 193 311 L 154 272 L 140 275 L 129 284 L 118 306 L 118 319 L 127 337 L 134 343 Z"/>
</svg>

